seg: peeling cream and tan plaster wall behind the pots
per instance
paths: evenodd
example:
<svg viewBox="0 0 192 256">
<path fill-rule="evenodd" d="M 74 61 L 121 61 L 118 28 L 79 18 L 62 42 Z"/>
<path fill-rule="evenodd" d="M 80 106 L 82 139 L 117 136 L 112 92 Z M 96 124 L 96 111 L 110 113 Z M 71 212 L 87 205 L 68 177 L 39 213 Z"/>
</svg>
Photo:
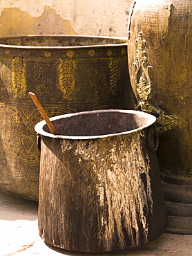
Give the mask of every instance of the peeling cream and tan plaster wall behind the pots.
<svg viewBox="0 0 192 256">
<path fill-rule="evenodd" d="M 0 37 L 126 37 L 132 0 L 0 0 Z"/>
</svg>

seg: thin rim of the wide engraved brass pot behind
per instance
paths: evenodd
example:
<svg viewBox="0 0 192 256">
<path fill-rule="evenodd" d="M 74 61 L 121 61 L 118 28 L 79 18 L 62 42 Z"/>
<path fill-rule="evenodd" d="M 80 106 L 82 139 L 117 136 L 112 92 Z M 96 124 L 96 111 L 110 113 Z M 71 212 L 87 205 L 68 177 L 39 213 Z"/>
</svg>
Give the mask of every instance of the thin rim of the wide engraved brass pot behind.
<svg viewBox="0 0 192 256">
<path fill-rule="evenodd" d="M 68 38 L 86 38 L 86 39 L 110 39 L 110 40 L 122 40 L 122 42 L 117 42 L 114 44 L 90 44 L 90 45 L 81 45 L 81 46 L 17 46 L 14 44 L 0 44 L 2 48 L 20 48 L 20 49 L 78 49 L 78 48 L 94 48 L 94 47 L 114 47 L 114 46 L 127 46 L 127 37 L 104 37 L 104 36 L 91 36 L 91 35 L 23 35 L 23 36 L 12 36 L 12 37 L 1 37 L 2 39 L 11 39 L 11 38 L 41 38 L 41 37 L 68 37 Z"/>
</svg>

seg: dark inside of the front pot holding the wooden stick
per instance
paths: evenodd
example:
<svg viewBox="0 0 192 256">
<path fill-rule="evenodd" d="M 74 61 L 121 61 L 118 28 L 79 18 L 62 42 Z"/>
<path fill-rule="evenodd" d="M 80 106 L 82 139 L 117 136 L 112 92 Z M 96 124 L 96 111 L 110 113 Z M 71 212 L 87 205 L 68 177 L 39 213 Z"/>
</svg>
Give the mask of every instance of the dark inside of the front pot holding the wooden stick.
<svg viewBox="0 0 192 256">
<path fill-rule="evenodd" d="M 62 136 L 101 136 L 142 128 L 148 123 L 148 118 L 142 113 L 87 111 L 64 115 L 52 123 Z M 47 125 L 43 130 L 50 133 Z"/>
</svg>

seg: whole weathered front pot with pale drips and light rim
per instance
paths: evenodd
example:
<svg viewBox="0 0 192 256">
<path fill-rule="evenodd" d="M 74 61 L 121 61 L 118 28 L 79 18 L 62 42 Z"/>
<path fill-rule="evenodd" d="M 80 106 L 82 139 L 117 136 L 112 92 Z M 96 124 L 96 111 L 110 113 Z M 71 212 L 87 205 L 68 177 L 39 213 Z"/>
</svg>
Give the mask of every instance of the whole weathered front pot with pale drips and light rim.
<svg viewBox="0 0 192 256">
<path fill-rule="evenodd" d="M 155 117 L 98 110 L 50 118 L 41 134 L 39 234 L 81 252 L 140 246 L 166 230 Z"/>
</svg>

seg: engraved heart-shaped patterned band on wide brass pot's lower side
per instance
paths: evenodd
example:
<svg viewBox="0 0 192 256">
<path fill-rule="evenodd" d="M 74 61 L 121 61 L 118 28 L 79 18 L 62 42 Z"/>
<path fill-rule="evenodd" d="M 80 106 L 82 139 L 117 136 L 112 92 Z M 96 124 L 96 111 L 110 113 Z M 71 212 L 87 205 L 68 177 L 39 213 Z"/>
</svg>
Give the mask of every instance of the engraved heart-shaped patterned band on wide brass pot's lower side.
<svg viewBox="0 0 192 256">
<path fill-rule="evenodd" d="M 33 125 L 38 112 L 21 111 L 18 107 L 6 104 L 0 104 L 0 106 L 1 144 L 6 152 L 6 159 L 15 163 L 19 161 L 38 163 L 39 152 Z"/>
</svg>

